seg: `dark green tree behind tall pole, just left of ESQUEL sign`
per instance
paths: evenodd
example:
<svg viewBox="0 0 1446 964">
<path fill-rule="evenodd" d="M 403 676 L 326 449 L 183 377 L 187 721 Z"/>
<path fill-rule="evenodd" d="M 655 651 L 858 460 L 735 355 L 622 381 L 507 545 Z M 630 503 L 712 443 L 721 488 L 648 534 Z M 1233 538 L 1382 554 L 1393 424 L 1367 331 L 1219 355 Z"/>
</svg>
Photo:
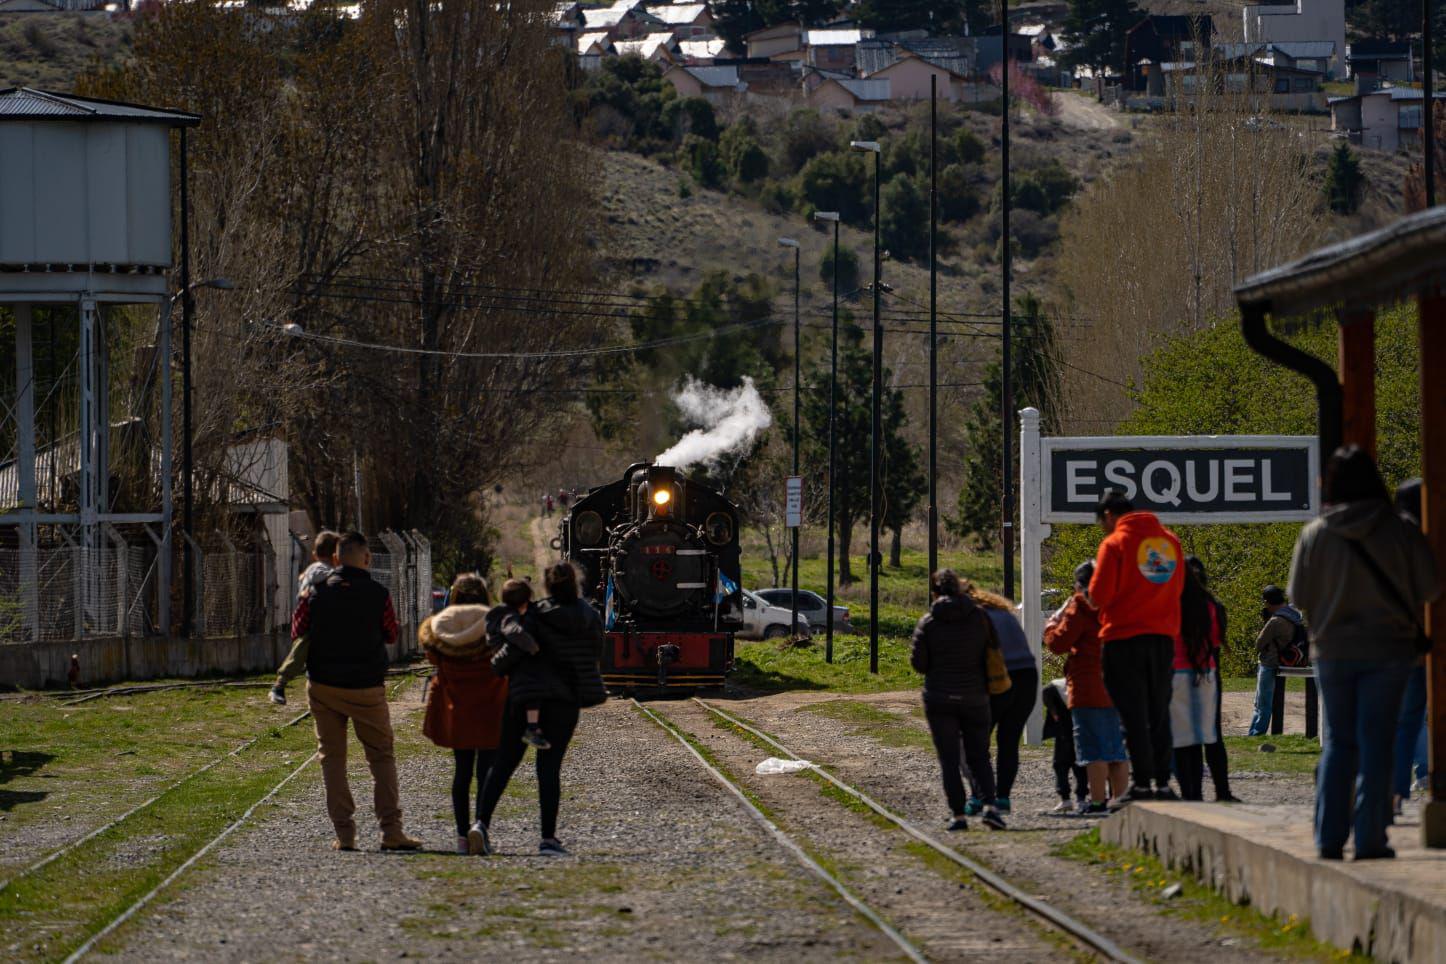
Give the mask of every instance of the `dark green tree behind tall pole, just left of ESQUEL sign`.
<svg viewBox="0 0 1446 964">
<path fill-rule="evenodd" d="M 1034 295 L 1025 295 L 1015 305 L 1015 338 L 1011 357 L 1014 363 L 1014 408 L 1022 409 L 1032 405 L 1040 409 L 1041 428 L 1050 431 L 1056 423 L 1054 403 L 1058 397 L 1054 327 Z M 998 542 L 999 507 L 1004 504 L 1002 397 L 1004 367 L 998 361 L 992 361 L 985 370 L 983 396 L 969 408 L 969 416 L 964 421 L 969 457 L 964 462 L 964 484 L 959 490 L 959 515 L 946 519 L 950 532 L 964 538 L 973 535 L 985 549 L 992 549 Z M 1018 474 L 1015 474 L 1017 490 L 1018 481 Z"/>
</svg>

